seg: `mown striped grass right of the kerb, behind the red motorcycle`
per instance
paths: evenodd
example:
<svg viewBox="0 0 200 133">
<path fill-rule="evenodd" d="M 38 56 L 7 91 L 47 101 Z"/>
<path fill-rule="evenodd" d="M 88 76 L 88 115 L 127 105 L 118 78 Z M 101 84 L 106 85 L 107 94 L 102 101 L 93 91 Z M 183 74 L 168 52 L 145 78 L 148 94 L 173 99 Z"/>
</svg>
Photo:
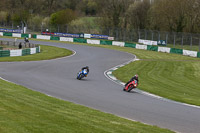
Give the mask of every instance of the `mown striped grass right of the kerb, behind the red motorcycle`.
<svg viewBox="0 0 200 133">
<path fill-rule="evenodd" d="M 137 73 L 140 89 L 200 106 L 199 58 L 127 48 L 123 51 L 133 53 L 141 60 L 114 71 L 118 79 L 127 82 Z"/>
</svg>

